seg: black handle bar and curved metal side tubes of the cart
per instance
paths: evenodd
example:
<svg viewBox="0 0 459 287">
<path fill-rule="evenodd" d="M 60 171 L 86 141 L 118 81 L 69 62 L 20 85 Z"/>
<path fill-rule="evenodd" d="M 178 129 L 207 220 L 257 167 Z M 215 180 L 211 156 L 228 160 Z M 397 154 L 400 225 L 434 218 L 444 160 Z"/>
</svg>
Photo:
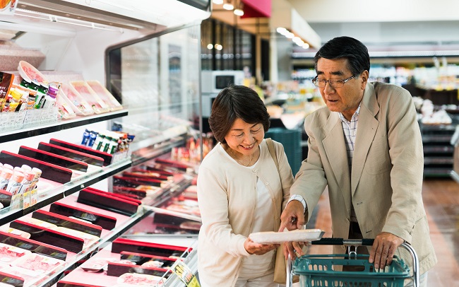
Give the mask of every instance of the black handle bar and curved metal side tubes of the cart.
<svg viewBox="0 0 459 287">
<path fill-rule="evenodd" d="M 321 240 L 311 241 L 310 243 L 313 245 L 352 245 L 352 246 L 360 246 L 360 245 L 373 245 L 374 239 L 342 239 L 342 238 L 321 238 Z M 405 248 L 411 255 L 413 266 L 413 277 L 414 279 L 414 287 L 419 287 L 419 259 L 415 252 L 415 249 L 406 242 L 403 242 L 400 247 Z M 287 257 L 287 281 L 285 281 L 286 287 L 292 287 L 293 283 L 293 273 L 292 273 L 292 257 L 290 254 Z"/>
</svg>

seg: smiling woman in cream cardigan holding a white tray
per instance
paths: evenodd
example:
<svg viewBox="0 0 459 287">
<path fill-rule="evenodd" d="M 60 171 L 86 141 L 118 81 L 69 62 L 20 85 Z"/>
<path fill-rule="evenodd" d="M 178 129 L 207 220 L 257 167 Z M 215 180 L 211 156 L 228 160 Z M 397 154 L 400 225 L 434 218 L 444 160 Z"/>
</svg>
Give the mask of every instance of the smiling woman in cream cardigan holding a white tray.
<svg viewBox="0 0 459 287">
<path fill-rule="evenodd" d="M 271 156 L 263 139 L 268 112 L 245 86 L 230 86 L 217 95 L 209 124 L 218 144 L 198 172 L 201 286 L 277 286 L 273 263 L 279 245 L 261 245 L 248 236 L 279 229 L 293 183 L 284 148 L 273 141 Z"/>
</svg>

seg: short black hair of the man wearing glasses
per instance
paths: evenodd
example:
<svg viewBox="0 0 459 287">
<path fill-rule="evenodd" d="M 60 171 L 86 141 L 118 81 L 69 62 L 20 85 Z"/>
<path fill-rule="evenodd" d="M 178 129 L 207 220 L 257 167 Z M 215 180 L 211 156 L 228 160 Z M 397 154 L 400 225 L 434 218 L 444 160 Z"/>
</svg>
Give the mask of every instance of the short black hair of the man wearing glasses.
<svg viewBox="0 0 459 287">
<path fill-rule="evenodd" d="M 318 50 L 314 57 L 314 68 L 317 71 L 318 59 L 347 59 L 347 68 L 352 76 L 357 76 L 363 71 L 370 71 L 370 56 L 368 49 L 362 42 L 352 37 L 335 37 Z"/>
</svg>

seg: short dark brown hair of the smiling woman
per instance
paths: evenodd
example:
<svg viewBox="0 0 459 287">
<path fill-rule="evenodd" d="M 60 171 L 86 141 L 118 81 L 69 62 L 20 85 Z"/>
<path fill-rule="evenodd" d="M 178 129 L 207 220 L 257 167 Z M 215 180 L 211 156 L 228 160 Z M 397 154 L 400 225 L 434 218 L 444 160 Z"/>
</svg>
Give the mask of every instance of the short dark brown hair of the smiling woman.
<svg viewBox="0 0 459 287">
<path fill-rule="evenodd" d="M 213 101 L 209 126 L 217 141 L 226 144 L 225 136 L 239 118 L 249 124 L 263 124 L 269 129 L 269 114 L 258 94 L 246 86 L 229 86 L 220 91 Z"/>
</svg>

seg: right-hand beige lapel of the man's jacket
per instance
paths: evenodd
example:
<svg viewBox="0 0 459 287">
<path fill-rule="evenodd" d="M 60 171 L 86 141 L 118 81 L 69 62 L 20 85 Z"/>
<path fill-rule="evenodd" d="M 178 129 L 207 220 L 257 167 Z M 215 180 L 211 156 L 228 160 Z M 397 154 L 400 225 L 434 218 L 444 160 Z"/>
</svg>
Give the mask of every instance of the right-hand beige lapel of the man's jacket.
<svg viewBox="0 0 459 287">
<path fill-rule="evenodd" d="M 355 189 L 357 189 L 364 169 L 366 155 L 368 154 L 376 130 L 378 129 L 379 121 L 376 119 L 378 111 L 379 105 L 376 99 L 374 86 L 371 83 L 367 83 L 362 105 L 360 105 L 359 124 L 357 126 L 357 136 L 355 139 L 354 157 L 352 159 L 352 194 L 354 194 Z"/>
</svg>

